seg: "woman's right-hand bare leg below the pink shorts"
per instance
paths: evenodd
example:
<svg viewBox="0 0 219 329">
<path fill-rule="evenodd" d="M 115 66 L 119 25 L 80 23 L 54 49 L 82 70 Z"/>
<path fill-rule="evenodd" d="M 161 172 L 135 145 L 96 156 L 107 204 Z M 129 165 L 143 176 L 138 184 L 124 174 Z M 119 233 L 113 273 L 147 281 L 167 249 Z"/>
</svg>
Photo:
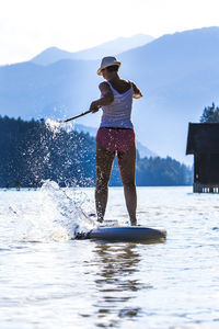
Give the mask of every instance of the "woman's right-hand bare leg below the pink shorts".
<svg viewBox="0 0 219 329">
<path fill-rule="evenodd" d="M 125 152 L 118 152 L 117 157 L 130 223 L 137 225 L 136 147 L 134 146 Z"/>
</svg>

